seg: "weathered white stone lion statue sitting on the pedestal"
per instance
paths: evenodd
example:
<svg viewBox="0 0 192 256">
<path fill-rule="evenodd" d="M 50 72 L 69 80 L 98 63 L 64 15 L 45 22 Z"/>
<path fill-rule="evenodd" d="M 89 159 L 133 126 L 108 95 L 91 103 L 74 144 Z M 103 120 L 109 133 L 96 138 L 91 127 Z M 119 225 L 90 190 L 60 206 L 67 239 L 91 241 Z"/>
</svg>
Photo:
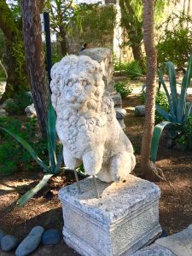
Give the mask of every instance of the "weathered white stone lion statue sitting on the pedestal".
<svg viewBox="0 0 192 256">
<path fill-rule="evenodd" d="M 86 55 L 67 55 L 51 69 L 56 131 L 69 168 L 80 166 L 104 182 L 124 180 L 135 167 L 130 140 L 104 90 L 102 68 Z"/>
</svg>

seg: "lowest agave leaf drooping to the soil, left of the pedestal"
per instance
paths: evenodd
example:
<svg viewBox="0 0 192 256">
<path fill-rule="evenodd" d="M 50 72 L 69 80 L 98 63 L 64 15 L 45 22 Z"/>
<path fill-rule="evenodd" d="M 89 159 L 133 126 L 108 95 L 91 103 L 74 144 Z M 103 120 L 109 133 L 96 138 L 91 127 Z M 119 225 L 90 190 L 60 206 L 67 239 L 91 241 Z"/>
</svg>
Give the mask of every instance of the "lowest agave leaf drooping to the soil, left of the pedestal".
<svg viewBox="0 0 192 256">
<path fill-rule="evenodd" d="M 19 207 L 25 206 L 26 202 L 29 201 L 33 195 L 37 194 L 39 190 L 44 188 L 44 185 L 48 183 L 49 178 L 52 177 L 53 174 L 45 174 L 43 179 L 35 186 L 33 189 L 30 189 L 26 192 L 25 195 L 22 195 L 20 199 L 17 201 Z"/>
</svg>

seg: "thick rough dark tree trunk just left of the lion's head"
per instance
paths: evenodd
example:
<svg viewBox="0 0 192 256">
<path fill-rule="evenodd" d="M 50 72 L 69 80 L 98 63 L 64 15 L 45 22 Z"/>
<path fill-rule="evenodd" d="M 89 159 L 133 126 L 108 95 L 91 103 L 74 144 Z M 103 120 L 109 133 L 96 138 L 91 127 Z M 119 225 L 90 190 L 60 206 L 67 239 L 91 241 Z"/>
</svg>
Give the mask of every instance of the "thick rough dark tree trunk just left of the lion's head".
<svg viewBox="0 0 192 256">
<path fill-rule="evenodd" d="M 38 0 L 21 0 L 26 69 L 42 136 L 46 137 L 49 85 L 45 75 L 44 49 Z"/>
</svg>

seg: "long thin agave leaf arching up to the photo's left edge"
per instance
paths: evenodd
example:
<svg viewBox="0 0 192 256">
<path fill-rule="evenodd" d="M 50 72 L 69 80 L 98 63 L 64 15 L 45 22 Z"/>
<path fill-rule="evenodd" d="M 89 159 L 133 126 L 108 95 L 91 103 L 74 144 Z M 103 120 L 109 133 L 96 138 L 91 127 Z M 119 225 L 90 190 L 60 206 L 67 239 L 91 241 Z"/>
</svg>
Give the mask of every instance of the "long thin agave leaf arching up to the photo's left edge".
<svg viewBox="0 0 192 256">
<path fill-rule="evenodd" d="M 28 150 L 29 154 L 32 155 L 32 158 L 38 163 L 38 165 L 44 168 L 46 172 L 49 172 L 49 167 L 46 166 L 42 160 L 40 160 L 38 154 L 35 153 L 34 149 L 28 143 L 26 143 L 23 138 L 19 137 L 14 132 L 9 131 L 6 128 L 0 127 L 0 129 L 6 131 L 10 136 L 14 137 L 18 143 L 20 143 L 24 148 L 26 148 L 26 150 Z"/>
</svg>

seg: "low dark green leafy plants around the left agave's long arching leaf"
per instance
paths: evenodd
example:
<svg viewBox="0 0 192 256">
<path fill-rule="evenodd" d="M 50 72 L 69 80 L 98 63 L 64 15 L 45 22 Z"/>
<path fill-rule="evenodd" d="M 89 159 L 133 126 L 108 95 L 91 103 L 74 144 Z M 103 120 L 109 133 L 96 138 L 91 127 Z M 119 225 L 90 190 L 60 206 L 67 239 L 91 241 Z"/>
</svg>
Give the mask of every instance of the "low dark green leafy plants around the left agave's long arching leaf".
<svg viewBox="0 0 192 256">
<path fill-rule="evenodd" d="M 22 123 L 18 119 L 1 117 L 0 126 L 9 129 L 9 131 L 17 133 L 23 139 L 26 139 L 43 156 L 47 154 L 47 143 L 41 138 L 36 137 L 37 120 L 30 119 L 26 123 Z M 0 173 L 9 175 L 11 172 L 30 171 L 38 167 L 31 155 L 17 143 L 13 137 L 0 131 Z"/>
</svg>

